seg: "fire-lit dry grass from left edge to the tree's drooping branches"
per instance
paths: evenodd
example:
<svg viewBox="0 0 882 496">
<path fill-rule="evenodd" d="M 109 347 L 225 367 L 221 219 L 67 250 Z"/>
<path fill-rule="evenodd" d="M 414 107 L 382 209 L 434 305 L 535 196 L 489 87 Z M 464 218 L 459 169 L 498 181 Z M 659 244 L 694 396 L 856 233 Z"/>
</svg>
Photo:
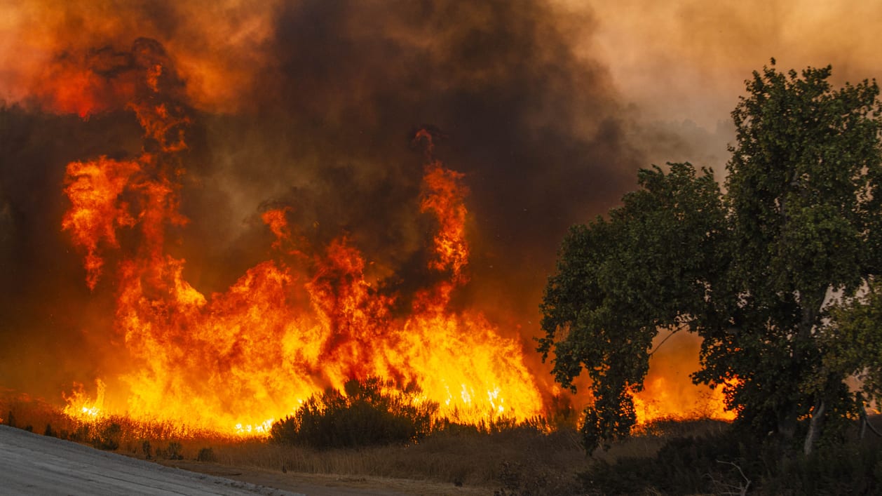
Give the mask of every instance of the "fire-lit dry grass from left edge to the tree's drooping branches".
<svg viewBox="0 0 882 496">
<path fill-rule="evenodd" d="M 503 487 L 506 477 L 539 477 L 573 485 L 584 463 L 573 427 L 550 430 L 542 419 L 499 420 L 463 425 L 443 419 L 419 440 L 375 446 L 311 447 L 274 442 L 267 437 L 183 429 L 130 417 L 69 417 L 63 410 L 26 397 L 0 400 L 4 423 L 47 426 L 45 433 L 82 444 L 157 462 L 184 461 L 251 470 L 334 474 L 344 477 L 394 477 L 452 485 Z M 191 463 L 196 462 L 196 463 Z"/>
</svg>

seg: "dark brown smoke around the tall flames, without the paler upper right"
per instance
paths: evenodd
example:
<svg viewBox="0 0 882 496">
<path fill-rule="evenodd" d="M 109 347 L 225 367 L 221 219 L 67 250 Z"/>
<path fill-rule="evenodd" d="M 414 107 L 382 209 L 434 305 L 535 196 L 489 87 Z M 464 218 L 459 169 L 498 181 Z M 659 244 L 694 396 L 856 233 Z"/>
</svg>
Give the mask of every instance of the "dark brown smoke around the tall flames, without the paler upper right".
<svg viewBox="0 0 882 496">
<path fill-rule="evenodd" d="M 195 85 L 175 50 L 213 52 L 188 34 L 190 19 L 173 4 L 110 4 L 146 32 L 96 36 L 88 49 L 155 40 Z M 188 280 L 221 291 L 272 256 L 259 214 L 284 206 L 314 251 L 346 235 L 388 284 L 418 286 L 434 224 L 419 212 L 425 157 L 412 139 L 429 128 L 435 158 L 469 190 L 471 282 L 458 304 L 537 334 L 566 229 L 614 206 L 648 165 L 609 68 L 574 49 L 595 19 L 440 0 L 285 2 L 271 19 L 253 66 L 236 66 L 248 77 L 228 88 L 235 110 L 191 102 L 180 192 L 190 222 L 169 241 Z M 48 392 L 125 359 L 110 330 L 112 278 L 86 289 L 82 253 L 60 228 L 62 189 L 68 162 L 137 155 L 141 135 L 124 108 L 82 119 L 20 98 L 0 110 L 0 384 L 38 380 Z"/>
</svg>

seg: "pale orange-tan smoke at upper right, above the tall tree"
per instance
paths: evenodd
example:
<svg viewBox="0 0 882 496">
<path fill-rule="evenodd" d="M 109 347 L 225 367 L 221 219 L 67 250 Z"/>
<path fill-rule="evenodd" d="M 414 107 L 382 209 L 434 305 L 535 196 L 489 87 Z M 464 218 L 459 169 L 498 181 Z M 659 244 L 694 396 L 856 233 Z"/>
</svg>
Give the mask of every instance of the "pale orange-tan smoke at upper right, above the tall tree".
<svg viewBox="0 0 882 496">
<path fill-rule="evenodd" d="M 579 2 L 565 2 L 578 9 Z M 689 160 L 722 177 L 735 141 L 729 113 L 744 80 L 774 57 L 784 71 L 833 65 L 832 83 L 882 77 L 875 2 L 698 0 L 595 3 L 597 29 L 577 52 L 609 68 L 621 102 L 639 115 L 647 162 Z M 676 143 L 676 147 L 674 144 Z"/>
</svg>

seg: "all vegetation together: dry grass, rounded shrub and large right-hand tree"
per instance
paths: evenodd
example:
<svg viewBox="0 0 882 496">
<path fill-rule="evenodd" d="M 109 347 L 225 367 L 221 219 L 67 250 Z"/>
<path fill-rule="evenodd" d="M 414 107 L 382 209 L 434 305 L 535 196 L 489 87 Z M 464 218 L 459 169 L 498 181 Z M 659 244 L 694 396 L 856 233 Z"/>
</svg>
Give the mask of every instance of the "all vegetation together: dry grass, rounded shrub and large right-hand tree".
<svg viewBox="0 0 882 496">
<path fill-rule="evenodd" d="M 83 421 L 2 397 L 0 422 L 148 460 L 418 478 L 500 496 L 873 493 L 882 104 L 875 83 L 833 89 L 829 77 L 829 67 L 785 74 L 773 61 L 732 114 L 724 187 L 689 163 L 641 170 L 621 207 L 564 238 L 538 349 L 565 387 L 587 372 L 593 402 L 579 432 L 542 419 L 438 420 L 418 390 L 377 379 L 310 397 L 269 440 Z M 734 425 L 635 430 L 632 395 L 661 328 L 703 338 L 693 379 L 724 388 Z"/>
</svg>

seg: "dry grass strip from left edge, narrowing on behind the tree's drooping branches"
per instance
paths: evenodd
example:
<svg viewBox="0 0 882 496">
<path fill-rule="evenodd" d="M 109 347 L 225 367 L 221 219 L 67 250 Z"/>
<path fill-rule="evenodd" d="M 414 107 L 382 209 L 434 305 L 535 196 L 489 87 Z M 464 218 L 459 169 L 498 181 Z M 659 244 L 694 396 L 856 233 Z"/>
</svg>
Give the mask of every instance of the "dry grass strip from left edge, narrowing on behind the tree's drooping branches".
<svg viewBox="0 0 882 496">
<path fill-rule="evenodd" d="M 502 425 L 481 432 L 448 425 L 407 446 L 360 449 L 313 449 L 265 439 L 243 439 L 212 432 L 187 431 L 168 423 L 133 422 L 105 417 L 81 422 L 55 407 L 29 398 L 0 398 L 0 417 L 11 412 L 19 427 L 96 446 L 96 436 L 119 425 L 116 452 L 153 460 L 215 462 L 229 467 L 333 474 L 341 477 L 392 477 L 503 490 L 506 494 L 553 494 L 579 491 L 576 474 L 593 459 L 653 456 L 670 437 L 719 432 L 713 420 L 668 420 L 646 426 L 638 435 L 587 457 L 572 426 L 547 432 L 534 425 Z M 85 432 L 84 432 L 85 431 Z"/>
</svg>

